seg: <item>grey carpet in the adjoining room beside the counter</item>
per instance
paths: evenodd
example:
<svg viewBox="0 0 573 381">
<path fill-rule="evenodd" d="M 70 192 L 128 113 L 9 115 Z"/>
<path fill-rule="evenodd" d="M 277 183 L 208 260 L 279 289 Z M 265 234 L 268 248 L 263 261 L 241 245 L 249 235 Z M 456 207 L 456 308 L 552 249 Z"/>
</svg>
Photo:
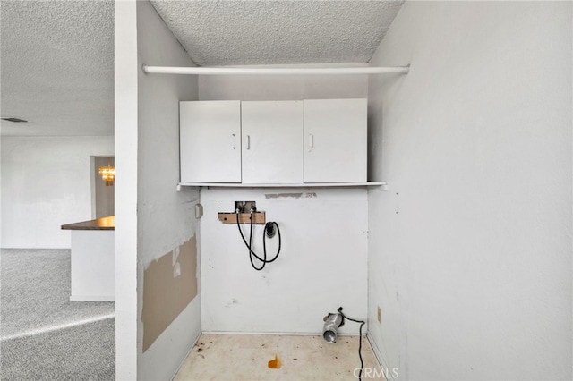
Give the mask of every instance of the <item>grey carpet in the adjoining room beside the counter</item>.
<svg viewBox="0 0 573 381">
<path fill-rule="evenodd" d="M 70 301 L 70 250 L 0 250 L 0 377 L 114 380 L 113 302 Z"/>
</svg>

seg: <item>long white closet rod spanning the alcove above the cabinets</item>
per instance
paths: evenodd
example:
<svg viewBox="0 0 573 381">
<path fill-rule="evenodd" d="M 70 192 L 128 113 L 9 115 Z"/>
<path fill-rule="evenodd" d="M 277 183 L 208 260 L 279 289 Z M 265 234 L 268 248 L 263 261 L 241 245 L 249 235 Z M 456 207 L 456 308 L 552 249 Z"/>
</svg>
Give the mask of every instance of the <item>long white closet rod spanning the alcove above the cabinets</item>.
<svg viewBox="0 0 573 381">
<path fill-rule="evenodd" d="M 324 74 L 386 74 L 401 72 L 406 74 L 407 66 L 389 67 L 308 67 L 308 68 L 268 68 L 268 67 L 173 67 L 143 65 L 143 72 L 150 74 L 195 74 L 195 75 L 324 75 Z"/>
</svg>

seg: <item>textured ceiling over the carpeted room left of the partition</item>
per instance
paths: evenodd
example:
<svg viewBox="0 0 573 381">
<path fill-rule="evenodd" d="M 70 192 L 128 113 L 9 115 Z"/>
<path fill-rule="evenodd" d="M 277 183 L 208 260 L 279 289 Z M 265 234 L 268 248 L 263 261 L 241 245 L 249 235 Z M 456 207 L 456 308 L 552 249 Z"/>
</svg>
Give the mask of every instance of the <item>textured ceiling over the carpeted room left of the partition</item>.
<svg viewBox="0 0 573 381">
<path fill-rule="evenodd" d="M 6 1 L 1 12 L 3 135 L 112 135 L 114 4 Z"/>
</svg>

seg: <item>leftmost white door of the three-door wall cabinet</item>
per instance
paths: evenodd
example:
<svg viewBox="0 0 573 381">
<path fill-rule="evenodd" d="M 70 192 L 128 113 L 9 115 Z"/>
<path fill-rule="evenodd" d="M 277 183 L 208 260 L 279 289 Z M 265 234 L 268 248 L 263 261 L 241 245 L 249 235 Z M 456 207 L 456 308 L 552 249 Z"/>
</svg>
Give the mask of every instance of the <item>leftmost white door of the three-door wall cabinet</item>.
<svg viewBox="0 0 573 381">
<path fill-rule="evenodd" d="M 241 182 L 241 102 L 179 103 L 181 182 Z"/>
</svg>

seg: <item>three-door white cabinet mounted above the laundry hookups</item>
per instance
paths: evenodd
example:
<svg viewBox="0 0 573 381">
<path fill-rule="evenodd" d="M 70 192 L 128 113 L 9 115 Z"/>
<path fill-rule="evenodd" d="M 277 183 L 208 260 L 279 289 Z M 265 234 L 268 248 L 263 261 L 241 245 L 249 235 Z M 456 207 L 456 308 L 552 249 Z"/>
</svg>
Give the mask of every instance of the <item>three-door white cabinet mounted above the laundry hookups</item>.
<svg viewBox="0 0 573 381">
<path fill-rule="evenodd" d="M 366 99 L 180 102 L 184 184 L 365 184 Z"/>
</svg>

